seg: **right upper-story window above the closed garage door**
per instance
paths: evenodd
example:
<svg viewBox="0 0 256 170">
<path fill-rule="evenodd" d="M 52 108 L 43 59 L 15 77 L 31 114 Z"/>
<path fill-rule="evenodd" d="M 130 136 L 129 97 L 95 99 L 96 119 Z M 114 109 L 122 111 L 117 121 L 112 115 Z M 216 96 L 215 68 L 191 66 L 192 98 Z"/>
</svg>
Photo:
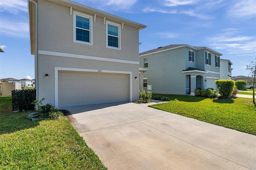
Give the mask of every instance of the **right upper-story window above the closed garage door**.
<svg viewBox="0 0 256 170">
<path fill-rule="evenodd" d="M 106 21 L 106 47 L 121 49 L 120 47 L 120 24 Z"/>
</svg>

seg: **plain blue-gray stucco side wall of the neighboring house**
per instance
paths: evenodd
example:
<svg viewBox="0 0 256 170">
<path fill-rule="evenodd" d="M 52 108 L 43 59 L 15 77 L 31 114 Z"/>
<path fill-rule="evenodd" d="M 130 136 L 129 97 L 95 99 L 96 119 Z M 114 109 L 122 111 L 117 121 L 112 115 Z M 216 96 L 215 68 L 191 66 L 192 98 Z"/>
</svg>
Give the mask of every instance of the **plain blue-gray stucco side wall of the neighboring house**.
<svg viewBox="0 0 256 170">
<path fill-rule="evenodd" d="M 164 51 L 148 55 L 149 71 L 144 73 L 148 77 L 148 85 L 152 85 L 152 93 L 186 94 L 185 48 Z M 146 56 L 145 56 L 146 57 Z M 143 62 L 144 57 L 140 57 Z"/>
</svg>

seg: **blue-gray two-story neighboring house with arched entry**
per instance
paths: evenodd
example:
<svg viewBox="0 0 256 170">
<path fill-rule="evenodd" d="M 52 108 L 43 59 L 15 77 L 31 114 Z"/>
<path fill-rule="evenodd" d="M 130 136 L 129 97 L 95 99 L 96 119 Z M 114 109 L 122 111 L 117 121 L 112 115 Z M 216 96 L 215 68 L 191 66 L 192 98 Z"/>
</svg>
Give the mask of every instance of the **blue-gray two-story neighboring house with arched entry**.
<svg viewBox="0 0 256 170">
<path fill-rule="evenodd" d="M 152 93 L 195 95 L 197 88 L 217 89 L 220 79 L 220 56 L 208 47 L 187 44 L 168 45 L 140 53 L 144 88 Z"/>
</svg>

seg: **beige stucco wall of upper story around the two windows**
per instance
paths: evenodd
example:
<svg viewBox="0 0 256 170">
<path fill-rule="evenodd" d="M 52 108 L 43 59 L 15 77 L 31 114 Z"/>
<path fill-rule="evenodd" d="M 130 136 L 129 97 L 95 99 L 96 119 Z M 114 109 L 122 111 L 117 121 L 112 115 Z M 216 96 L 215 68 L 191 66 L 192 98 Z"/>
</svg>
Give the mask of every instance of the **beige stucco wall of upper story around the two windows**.
<svg viewBox="0 0 256 170">
<path fill-rule="evenodd" d="M 123 30 L 119 30 L 121 50 L 106 48 L 106 24 L 104 25 L 102 17 L 96 16 L 96 22 L 92 21 L 93 45 L 76 43 L 73 42 L 73 15 L 74 12 L 72 16 L 70 15 L 68 7 L 48 1 L 38 1 L 38 49 L 138 61 L 137 28 L 124 24 Z M 87 15 L 91 16 L 91 14 Z"/>
</svg>

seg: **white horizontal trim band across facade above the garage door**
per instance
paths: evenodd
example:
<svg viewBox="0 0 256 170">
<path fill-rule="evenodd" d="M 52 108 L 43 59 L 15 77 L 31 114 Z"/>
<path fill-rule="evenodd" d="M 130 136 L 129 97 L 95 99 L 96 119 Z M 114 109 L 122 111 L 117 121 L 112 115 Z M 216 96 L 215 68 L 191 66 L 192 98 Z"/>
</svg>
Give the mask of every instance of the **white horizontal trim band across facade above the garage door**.
<svg viewBox="0 0 256 170">
<path fill-rule="evenodd" d="M 60 52 L 45 51 L 45 50 L 38 50 L 38 54 L 41 54 L 41 55 L 54 55 L 54 56 L 58 56 L 58 57 L 92 59 L 92 60 L 98 60 L 98 61 L 109 61 L 109 62 L 126 63 L 126 64 L 138 64 L 138 65 L 140 64 L 139 61 L 129 61 L 129 60 L 113 59 L 113 58 L 105 58 L 105 57 L 94 57 L 94 56 L 90 56 L 90 55 L 60 53 Z"/>
</svg>

